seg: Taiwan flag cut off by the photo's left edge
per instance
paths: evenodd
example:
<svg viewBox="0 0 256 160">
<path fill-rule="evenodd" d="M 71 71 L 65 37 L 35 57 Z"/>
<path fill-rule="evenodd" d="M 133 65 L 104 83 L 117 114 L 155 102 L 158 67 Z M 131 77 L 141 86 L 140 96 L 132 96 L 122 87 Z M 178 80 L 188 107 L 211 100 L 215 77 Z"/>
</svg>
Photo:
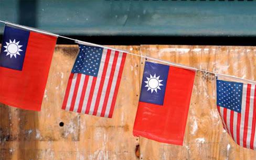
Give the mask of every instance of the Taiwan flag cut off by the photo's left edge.
<svg viewBox="0 0 256 160">
<path fill-rule="evenodd" d="M 40 111 L 57 37 L 5 26 L 0 52 L 0 102 Z"/>
</svg>

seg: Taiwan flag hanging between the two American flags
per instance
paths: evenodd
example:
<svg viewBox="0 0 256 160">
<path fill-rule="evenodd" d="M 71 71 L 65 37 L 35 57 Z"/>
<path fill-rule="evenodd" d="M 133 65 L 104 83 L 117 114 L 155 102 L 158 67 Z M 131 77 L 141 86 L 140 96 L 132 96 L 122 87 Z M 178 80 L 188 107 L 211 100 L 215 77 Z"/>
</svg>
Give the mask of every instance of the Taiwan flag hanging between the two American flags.
<svg viewBox="0 0 256 160">
<path fill-rule="evenodd" d="M 133 135 L 183 145 L 195 73 L 146 62 Z"/>
</svg>

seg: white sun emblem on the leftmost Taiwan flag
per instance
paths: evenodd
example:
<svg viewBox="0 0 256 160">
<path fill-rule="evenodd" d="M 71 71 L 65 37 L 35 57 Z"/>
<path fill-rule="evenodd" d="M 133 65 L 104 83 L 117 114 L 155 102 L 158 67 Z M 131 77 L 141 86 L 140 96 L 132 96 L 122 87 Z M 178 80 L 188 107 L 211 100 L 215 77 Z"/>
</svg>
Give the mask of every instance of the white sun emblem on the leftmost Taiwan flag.
<svg viewBox="0 0 256 160">
<path fill-rule="evenodd" d="M 22 49 L 20 49 L 20 47 L 22 47 L 22 45 L 19 45 L 19 41 L 16 42 L 16 40 L 14 39 L 13 41 L 12 40 L 9 40 L 9 43 L 8 42 L 5 42 L 6 45 L 4 46 L 4 48 L 6 50 L 4 50 L 4 52 L 7 52 L 6 55 L 10 55 L 10 58 L 12 58 L 13 56 L 16 58 L 17 54 L 19 54 L 19 51 L 23 51 Z"/>
</svg>

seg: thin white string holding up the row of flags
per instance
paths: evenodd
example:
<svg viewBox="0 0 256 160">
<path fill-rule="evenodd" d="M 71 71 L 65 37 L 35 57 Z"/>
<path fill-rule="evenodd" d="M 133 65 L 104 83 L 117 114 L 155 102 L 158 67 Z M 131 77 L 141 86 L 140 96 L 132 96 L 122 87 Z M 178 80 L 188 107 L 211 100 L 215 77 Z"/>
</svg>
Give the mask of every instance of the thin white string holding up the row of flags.
<svg viewBox="0 0 256 160">
<path fill-rule="evenodd" d="M 172 65 L 172 66 L 177 66 L 177 67 L 181 67 L 181 68 L 185 68 L 185 69 L 189 69 L 189 70 L 194 70 L 194 71 L 207 72 L 207 73 L 210 73 L 210 74 L 214 74 L 215 76 L 221 75 L 221 76 L 226 76 L 226 77 L 230 77 L 230 78 L 234 78 L 234 79 L 240 79 L 240 80 L 243 80 L 243 81 L 247 81 L 248 83 L 256 83 L 255 81 L 251 81 L 249 79 L 240 78 L 240 77 L 237 77 L 237 76 L 232 76 L 232 75 L 228 75 L 228 74 L 221 74 L 221 73 L 211 72 L 211 71 L 202 70 L 202 69 L 195 68 L 195 67 L 189 67 L 189 66 L 182 65 L 182 64 L 176 64 L 176 63 L 172 63 L 172 62 L 168 62 L 168 61 L 164 61 L 164 60 L 160 60 L 160 59 L 151 58 L 151 57 L 145 56 L 145 55 L 134 54 L 134 53 L 131 53 L 131 52 L 127 52 L 125 50 L 118 50 L 118 49 L 111 48 L 111 47 L 106 47 L 106 46 L 100 45 L 100 44 L 80 41 L 80 40 L 77 40 L 77 39 L 56 35 L 54 33 L 48 32 L 48 31 L 39 30 L 39 29 L 36 29 L 36 28 L 22 26 L 22 25 L 17 25 L 17 24 L 13 24 L 11 22 L 3 21 L 3 20 L 0 20 L 0 22 L 3 22 L 3 23 L 8 24 L 8 25 L 12 25 L 12 26 L 20 27 L 20 28 L 23 28 L 23 29 L 27 29 L 27 30 L 31 30 L 31 31 L 39 32 L 39 33 L 44 33 L 46 35 L 51 35 L 51 36 L 55 36 L 55 37 L 61 37 L 61 38 L 69 39 L 69 40 L 72 40 L 72 41 L 74 41 L 76 43 L 79 43 L 79 44 L 85 44 L 85 45 L 91 45 L 91 46 L 95 46 L 95 47 L 101 47 L 101 48 L 116 50 L 116 51 L 120 51 L 120 52 L 125 52 L 127 54 L 131 54 L 131 55 L 135 55 L 135 56 L 140 56 L 142 58 L 146 58 L 146 59 L 149 59 L 149 60 L 154 60 L 154 61 L 157 61 L 157 62 L 166 63 L 166 64 L 169 64 L 169 65 Z"/>
</svg>

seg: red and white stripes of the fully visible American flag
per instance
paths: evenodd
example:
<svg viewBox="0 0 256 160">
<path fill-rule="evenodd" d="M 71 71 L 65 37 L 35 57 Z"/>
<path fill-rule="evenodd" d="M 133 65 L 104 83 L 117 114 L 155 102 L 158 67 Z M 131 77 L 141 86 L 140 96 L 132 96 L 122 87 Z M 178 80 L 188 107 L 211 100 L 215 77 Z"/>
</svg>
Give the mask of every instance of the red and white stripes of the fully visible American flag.
<svg viewBox="0 0 256 160">
<path fill-rule="evenodd" d="M 103 49 L 97 77 L 71 73 L 62 109 L 111 118 L 126 53 Z"/>
</svg>

